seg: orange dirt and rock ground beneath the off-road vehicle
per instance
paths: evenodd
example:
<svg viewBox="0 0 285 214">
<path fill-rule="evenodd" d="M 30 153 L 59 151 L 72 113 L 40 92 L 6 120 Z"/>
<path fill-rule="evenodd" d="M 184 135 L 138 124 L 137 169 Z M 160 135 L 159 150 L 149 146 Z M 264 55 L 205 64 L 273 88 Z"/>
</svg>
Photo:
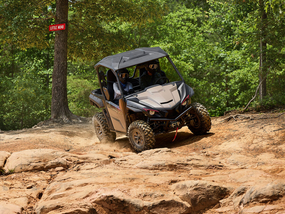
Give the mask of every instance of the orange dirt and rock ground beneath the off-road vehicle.
<svg viewBox="0 0 285 214">
<path fill-rule="evenodd" d="M 137 154 L 91 123 L 0 134 L 0 213 L 285 213 L 285 114 L 212 118 Z M 277 117 L 278 116 L 278 117 Z"/>
</svg>

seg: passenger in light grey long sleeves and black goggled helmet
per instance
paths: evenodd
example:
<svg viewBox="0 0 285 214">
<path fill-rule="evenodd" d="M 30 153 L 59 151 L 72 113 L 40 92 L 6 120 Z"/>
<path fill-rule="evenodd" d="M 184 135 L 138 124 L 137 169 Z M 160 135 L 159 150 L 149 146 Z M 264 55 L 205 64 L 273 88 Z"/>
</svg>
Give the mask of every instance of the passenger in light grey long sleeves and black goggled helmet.
<svg viewBox="0 0 285 214">
<path fill-rule="evenodd" d="M 130 82 L 127 82 L 129 78 L 129 74 L 130 74 L 130 71 L 127 70 L 126 68 L 118 70 L 119 80 L 124 90 L 123 92 L 124 94 L 134 92 L 133 85 Z M 121 91 L 119 89 L 119 85 L 116 82 L 114 82 L 113 88 L 114 88 L 114 103 L 116 105 L 119 105 L 119 99 L 121 99 L 122 97 Z"/>
</svg>

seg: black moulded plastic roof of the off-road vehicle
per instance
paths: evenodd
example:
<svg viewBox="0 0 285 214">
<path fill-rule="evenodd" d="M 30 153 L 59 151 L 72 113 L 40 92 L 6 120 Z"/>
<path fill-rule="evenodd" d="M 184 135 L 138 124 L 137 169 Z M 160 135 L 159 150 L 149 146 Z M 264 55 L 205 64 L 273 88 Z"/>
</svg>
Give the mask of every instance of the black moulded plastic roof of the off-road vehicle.
<svg viewBox="0 0 285 214">
<path fill-rule="evenodd" d="M 95 64 L 94 68 L 96 69 L 98 66 L 102 65 L 116 71 L 122 68 L 128 68 L 144 62 L 152 61 L 164 56 L 169 55 L 160 47 L 137 48 L 132 51 L 107 56 Z"/>
</svg>

